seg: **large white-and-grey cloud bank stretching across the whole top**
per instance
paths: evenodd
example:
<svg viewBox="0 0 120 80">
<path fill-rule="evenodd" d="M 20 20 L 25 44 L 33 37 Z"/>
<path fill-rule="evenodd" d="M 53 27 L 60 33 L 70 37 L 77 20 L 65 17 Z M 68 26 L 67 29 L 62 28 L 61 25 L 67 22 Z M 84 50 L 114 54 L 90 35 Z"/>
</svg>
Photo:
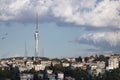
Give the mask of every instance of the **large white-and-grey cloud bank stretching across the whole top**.
<svg viewBox="0 0 120 80">
<path fill-rule="evenodd" d="M 120 28 L 120 0 L 0 0 L 0 21 Z M 60 22 L 60 23 L 59 23 Z"/>
</svg>

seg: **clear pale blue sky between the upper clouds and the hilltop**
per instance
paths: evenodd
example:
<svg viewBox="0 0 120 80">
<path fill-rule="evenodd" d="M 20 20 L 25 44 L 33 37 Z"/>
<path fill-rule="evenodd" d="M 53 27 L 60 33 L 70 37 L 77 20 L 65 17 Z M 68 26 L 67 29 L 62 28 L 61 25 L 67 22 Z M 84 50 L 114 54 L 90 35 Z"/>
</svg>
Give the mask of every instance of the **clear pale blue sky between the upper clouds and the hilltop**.
<svg viewBox="0 0 120 80">
<path fill-rule="evenodd" d="M 16 27 L 17 26 L 17 27 Z M 24 56 L 25 41 L 28 55 L 34 56 L 35 24 L 11 24 L 0 27 L 1 57 Z M 83 32 L 79 27 L 57 26 L 54 23 L 39 24 L 39 56 L 45 57 L 76 57 L 83 53 L 85 47 L 75 42 Z M 7 33 L 7 35 L 6 35 Z M 2 39 L 5 37 L 5 39 Z M 43 52 L 44 50 L 44 52 Z"/>
</svg>

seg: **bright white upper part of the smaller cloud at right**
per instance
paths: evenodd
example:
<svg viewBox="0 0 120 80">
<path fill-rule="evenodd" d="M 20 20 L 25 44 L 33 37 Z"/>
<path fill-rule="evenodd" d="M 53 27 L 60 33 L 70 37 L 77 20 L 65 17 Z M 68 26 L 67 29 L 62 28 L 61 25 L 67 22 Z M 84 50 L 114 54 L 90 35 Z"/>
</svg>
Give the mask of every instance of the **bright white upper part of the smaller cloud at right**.
<svg viewBox="0 0 120 80">
<path fill-rule="evenodd" d="M 82 35 L 78 40 L 85 39 L 92 41 L 94 44 L 107 42 L 110 46 L 120 45 L 120 32 L 98 32 Z"/>
</svg>

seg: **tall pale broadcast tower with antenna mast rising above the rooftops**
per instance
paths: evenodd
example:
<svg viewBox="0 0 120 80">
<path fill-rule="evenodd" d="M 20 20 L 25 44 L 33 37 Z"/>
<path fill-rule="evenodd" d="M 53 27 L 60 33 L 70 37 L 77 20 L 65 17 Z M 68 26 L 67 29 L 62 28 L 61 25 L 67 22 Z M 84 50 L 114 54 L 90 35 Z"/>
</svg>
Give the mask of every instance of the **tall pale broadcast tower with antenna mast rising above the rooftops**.
<svg viewBox="0 0 120 80">
<path fill-rule="evenodd" d="M 38 57 L 39 53 L 39 31 L 38 31 L 38 15 L 36 15 L 36 31 L 35 31 L 35 57 L 34 60 Z"/>
</svg>

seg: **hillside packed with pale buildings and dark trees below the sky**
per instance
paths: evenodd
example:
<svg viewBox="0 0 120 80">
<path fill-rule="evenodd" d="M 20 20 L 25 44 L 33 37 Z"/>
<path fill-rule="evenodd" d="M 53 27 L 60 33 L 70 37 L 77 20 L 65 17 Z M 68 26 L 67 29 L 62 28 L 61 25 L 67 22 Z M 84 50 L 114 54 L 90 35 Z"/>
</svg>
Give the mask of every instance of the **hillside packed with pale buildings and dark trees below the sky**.
<svg viewBox="0 0 120 80">
<path fill-rule="evenodd" d="M 0 80 L 119 80 L 120 55 L 0 60 Z"/>
</svg>

